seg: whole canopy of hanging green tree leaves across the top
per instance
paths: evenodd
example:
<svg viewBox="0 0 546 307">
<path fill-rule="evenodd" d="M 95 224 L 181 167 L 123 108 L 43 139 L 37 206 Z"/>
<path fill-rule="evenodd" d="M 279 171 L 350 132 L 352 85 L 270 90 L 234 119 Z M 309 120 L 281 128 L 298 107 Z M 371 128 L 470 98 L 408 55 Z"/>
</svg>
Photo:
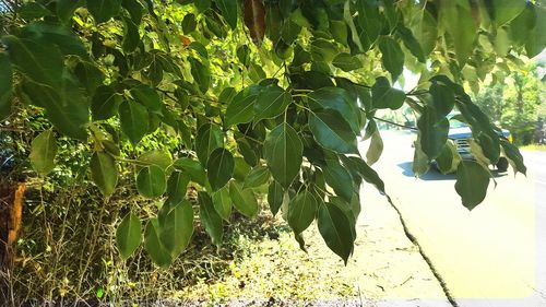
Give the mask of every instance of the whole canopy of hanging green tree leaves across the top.
<svg viewBox="0 0 546 307">
<path fill-rule="evenodd" d="M 29 3 L 39 10 L 14 15 L 0 37 L 0 120 L 23 108 L 44 113 L 54 130 L 38 135 L 29 156 L 40 174 L 55 166 L 55 131 L 93 147 L 91 178 L 105 197 L 131 169 L 144 198 L 167 192 L 144 232 L 157 265 L 168 265 L 191 237 L 187 187 L 199 193 L 199 216 L 215 245 L 232 205 L 254 216 L 257 194 L 266 190 L 271 211 L 288 210 L 299 238 L 317 219 L 346 262 L 359 212 L 346 209 L 360 199 L 359 182 L 384 193 L 369 166 L 382 152 L 378 109 L 406 105 L 419 115 L 414 168 L 424 172 L 434 160 L 456 168 L 455 190 L 468 209 L 483 201 L 488 173 L 453 156 L 446 132 L 452 110 L 488 161 L 503 153 L 526 170 L 465 88 L 544 49 L 545 9 L 534 1 Z M 407 93 L 396 83 L 404 70 L 420 74 Z M 367 162 L 357 149 L 363 130 L 372 138 Z M 162 150 L 147 141 L 154 133 L 176 140 L 174 162 L 155 153 L 123 158 Z M 136 245 L 135 216 L 126 219 L 122 258 Z"/>
</svg>

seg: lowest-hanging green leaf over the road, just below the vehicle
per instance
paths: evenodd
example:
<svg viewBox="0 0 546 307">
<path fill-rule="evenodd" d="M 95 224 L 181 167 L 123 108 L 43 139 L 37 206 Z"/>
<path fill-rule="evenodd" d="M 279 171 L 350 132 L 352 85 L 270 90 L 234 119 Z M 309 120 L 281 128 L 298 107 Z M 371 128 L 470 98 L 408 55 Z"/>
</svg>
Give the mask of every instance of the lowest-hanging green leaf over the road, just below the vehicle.
<svg viewBox="0 0 546 307">
<path fill-rule="evenodd" d="M 473 210 L 485 199 L 488 186 L 489 172 L 479 163 L 463 161 L 459 164 L 455 190 L 466 209 Z"/>
</svg>

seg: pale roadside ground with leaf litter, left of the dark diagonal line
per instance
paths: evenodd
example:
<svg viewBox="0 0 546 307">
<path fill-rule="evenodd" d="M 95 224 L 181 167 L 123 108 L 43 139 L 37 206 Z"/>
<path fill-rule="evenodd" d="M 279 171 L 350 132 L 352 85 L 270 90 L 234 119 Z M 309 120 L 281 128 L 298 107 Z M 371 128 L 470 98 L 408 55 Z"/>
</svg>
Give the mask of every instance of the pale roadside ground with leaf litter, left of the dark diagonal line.
<svg viewBox="0 0 546 307">
<path fill-rule="evenodd" d="M 311 225 L 305 234 L 308 253 L 289 233 L 256 245 L 248 241 L 249 253 L 235 258 L 230 274 L 176 296 L 228 304 L 258 299 L 260 305 L 449 306 L 418 249 L 405 237 L 394 210 L 372 188 L 366 192 L 355 252 L 347 267 Z"/>
</svg>

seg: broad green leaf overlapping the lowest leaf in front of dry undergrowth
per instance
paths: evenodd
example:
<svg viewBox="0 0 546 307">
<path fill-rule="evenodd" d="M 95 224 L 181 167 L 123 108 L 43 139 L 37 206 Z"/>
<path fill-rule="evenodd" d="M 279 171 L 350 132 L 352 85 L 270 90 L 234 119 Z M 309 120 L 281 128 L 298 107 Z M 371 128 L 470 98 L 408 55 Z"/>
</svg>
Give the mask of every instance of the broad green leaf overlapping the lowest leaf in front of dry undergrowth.
<svg viewBox="0 0 546 307">
<path fill-rule="evenodd" d="M 166 204 L 164 204 L 166 205 Z M 188 247 L 193 235 L 193 209 L 187 200 L 170 209 L 161 222 L 159 239 L 173 259 Z"/>
</svg>

